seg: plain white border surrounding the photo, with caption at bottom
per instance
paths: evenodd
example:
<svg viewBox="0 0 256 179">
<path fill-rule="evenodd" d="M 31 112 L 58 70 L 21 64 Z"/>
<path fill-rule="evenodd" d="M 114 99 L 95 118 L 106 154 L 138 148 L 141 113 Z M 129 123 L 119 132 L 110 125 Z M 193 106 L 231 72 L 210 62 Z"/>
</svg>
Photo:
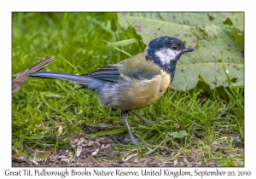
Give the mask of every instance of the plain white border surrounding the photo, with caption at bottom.
<svg viewBox="0 0 256 179">
<path fill-rule="evenodd" d="M 4 175 L 4 170 L 20 170 L 20 168 L 11 168 L 11 12 L 13 11 L 244 11 L 245 12 L 245 167 L 241 168 L 220 168 L 219 170 L 247 170 L 251 171 L 252 175 L 247 176 L 256 178 L 255 171 L 255 9 L 253 1 L 238 1 L 238 0 L 214 0 L 214 1 L 107 1 L 107 0 L 93 0 L 93 1 L 32 1 L 32 0 L 13 0 L 4 1 L 0 3 L 0 77 L 2 82 L 0 93 L 0 137 L 1 137 L 1 162 L 0 162 L 0 177 L 9 178 Z M 254 87 L 255 86 L 255 87 Z M 23 168 L 24 169 L 24 168 Z M 25 168 L 27 169 L 27 168 Z M 35 168 L 29 168 L 35 169 Z M 42 168 L 41 168 L 42 169 Z M 122 168 L 122 170 L 142 170 L 143 168 Z M 147 168 L 150 170 L 151 168 Z M 178 168 L 170 168 L 178 170 Z M 196 168 L 182 168 L 183 170 L 190 170 L 194 172 Z M 216 168 L 200 168 L 199 170 L 216 170 Z M 21 169 L 22 170 L 22 169 Z M 64 170 L 63 168 L 47 168 L 47 170 Z M 71 169 L 70 169 L 71 170 Z M 77 170 L 83 170 L 81 168 Z M 90 170 L 93 170 L 90 168 Z M 104 170 L 115 170 L 113 168 L 105 168 Z M 19 176 L 20 177 L 20 176 Z M 23 177 L 23 176 L 21 176 Z M 45 176 L 44 176 L 45 177 Z M 48 176 L 49 178 L 57 178 L 56 176 Z M 89 176 L 81 176 L 85 178 Z M 93 176 L 97 178 L 96 176 Z M 105 176 L 106 177 L 106 176 Z M 107 176 L 112 178 L 113 176 Z M 148 176 L 146 176 L 148 177 Z M 156 177 L 156 176 L 149 176 Z M 165 176 L 161 176 L 165 177 Z M 166 176 L 173 178 L 172 176 Z M 207 176 L 211 177 L 211 176 Z M 216 176 L 212 176 L 212 178 Z M 218 176 L 220 177 L 220 176 Z M 238 177 L 238 176 L 236 176 Z M 26 176 L 24 176 L 26 178 Z M 37 178 L 37 177 L 36 177 Z M 41 177 L 42 178 L 42 177 Z M 61 178 L 61 176 L 59 176 Z M 71 177 L 65 177 L 71 178 Z M 178 176 L 177 178 L 187 178 Z M 231 178 L 231 177 L 230 177 Z"/>
</svg>

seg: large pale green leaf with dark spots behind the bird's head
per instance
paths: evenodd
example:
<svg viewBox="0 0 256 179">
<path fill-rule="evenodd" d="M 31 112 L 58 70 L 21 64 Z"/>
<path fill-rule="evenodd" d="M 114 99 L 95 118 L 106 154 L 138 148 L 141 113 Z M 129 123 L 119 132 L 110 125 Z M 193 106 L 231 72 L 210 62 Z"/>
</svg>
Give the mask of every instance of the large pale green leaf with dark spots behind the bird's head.
<svg viewBox="0 0 256 179">
<path fill-rule="evenodd" d="M 118 14 L 120 25 L 134 26 L 145 44 L 154 38 L 172 36 L 196 49 L 183 55 L 177 63 L 172 83 L 177 90 L 195 88 L 200 79 L 205 80 L 211 89 L 220 85 L 243 86 L 243 15 L 243 13 Z M 231 79 L 231 83 L 226 74 Z"/>
</svg>

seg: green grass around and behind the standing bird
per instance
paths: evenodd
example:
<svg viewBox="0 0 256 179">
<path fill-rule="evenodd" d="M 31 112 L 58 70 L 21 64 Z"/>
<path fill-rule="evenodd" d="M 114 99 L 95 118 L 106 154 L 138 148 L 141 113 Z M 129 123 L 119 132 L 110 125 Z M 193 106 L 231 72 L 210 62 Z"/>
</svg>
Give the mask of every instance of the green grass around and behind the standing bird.
<svg viewBox="0 0 256 179">
<path fill-rule="evenodd" d="M 145 48 L 133 28 L 119 26 L 115 13 L 13 13 L 12 34 L 13 74 L 50 55 L 56 61 L 48 71 L 93 72 Z M 129 118 L 133 134 L 147 145 L 113 144 L 112 153 L 119 157 L 96 161 L 137 153 L 135 158 L 243 166 L 244 90 L 203 86 L 200 82 L 193 90 L 167 90 L 159 101 L 138 111 L 150 126 Z M 120 111 L 103 107 L 93 92 L 76 90 L 79 87 L 59 80 L 26 80 L 12 103 L 16 155 L 35 147 L 72 148 L 69 142 L 77 136 L 127 136 Z"/>
</svg>

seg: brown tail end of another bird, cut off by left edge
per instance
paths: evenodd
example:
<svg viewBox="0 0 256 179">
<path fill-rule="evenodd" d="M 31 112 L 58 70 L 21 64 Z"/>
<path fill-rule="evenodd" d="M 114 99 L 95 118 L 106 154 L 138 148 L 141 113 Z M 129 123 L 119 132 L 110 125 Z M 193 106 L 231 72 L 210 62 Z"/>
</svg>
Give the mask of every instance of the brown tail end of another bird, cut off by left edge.
<svg viewBox="0 0 256 179">
<path fill-rule="evenodd" d="M 28 78 L 27 74 L 31 72 L 38 72 L 40 70 L 43 70 L 45 66 L 49 65 L 54 61 L 55 56 L 50 56 L 47 59 L 44 59 L 44 61 L 39 61 L 37 64 L 27 68 L 23 72 L 19 72 L 12 76 L 12 97 L 20 90 L 20 87 L 22 84 L 25 83 L 26 78 Z"/>
</svg>

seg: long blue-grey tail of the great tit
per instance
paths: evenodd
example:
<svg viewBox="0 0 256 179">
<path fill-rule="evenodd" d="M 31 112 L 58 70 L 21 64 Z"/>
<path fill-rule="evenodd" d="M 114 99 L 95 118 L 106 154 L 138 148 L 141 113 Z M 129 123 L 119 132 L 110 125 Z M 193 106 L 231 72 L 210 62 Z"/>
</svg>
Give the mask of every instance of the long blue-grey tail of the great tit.
<svg viewBox="0 0 256 179">
<path fill-rule="evenodd" d="M 28 74 L 34 78 L 54 78 L 75 82 L 83 85 L 90 90 L 97 90 L 102 85 L 102 81 L 96 78 L 90 78 L 85 75 L 74 75 L 62 72 L 32 72 Z"/>
</svg>

